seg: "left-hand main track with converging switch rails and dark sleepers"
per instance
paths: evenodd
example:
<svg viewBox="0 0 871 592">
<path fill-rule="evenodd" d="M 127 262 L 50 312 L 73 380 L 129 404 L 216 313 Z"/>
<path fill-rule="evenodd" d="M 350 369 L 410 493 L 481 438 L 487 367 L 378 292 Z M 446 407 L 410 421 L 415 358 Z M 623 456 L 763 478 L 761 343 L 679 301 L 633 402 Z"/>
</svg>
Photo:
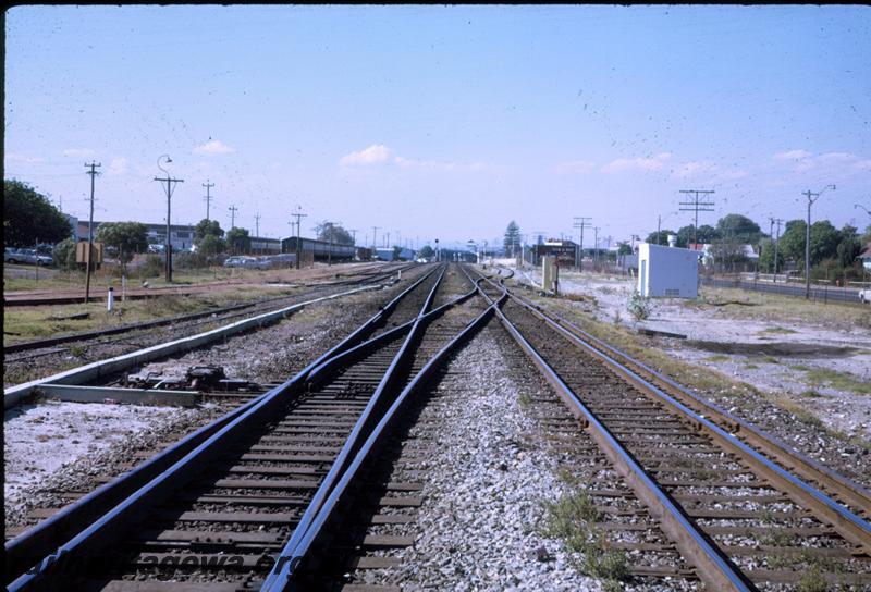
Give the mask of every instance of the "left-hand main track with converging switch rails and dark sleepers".
<svg viewBox="0 0 871 592">
<path fill-rule="evenodd" d="M 160 565 L 163 577 L 169 570 L 192 589 L 220 588 L 219 581 L 236 587 L 265 577 L 272 562 L 265 557 L 295 532 L 294 522 L 305 518 L 304 508 L 322 501 L 342 473 L 342 459 L 349 457 L 355 443 L 371 429 L 389 404 L 390 393 L 407 382 L 427 353 L 444 343 L 453 328 L 465 325 L 470 314 L 483 308 L 467 303 L 474 295 L 469 289 L 425 316 L 441 273 L 419 281 L 404 298 L 391 303 L 353 338 L 340 344 L 342 347 L 322 356 L 282 388 L 231 414 L 233 418 L 223 428 L 212 430 L 210 440 L 188 453 L 184 469 L 176 466 L 177 470 L 168 471 L 171 474 L 161 474 L 159 483 L 139 490 L 81 532 L 60 556 L 94 558 L 88 551 L 105 548 L 109 530 L 121 533 L 123 525 L 124 536 L 110 536 L 113 548 L 123 553 L 113 556 L 108 572 L 86 570 L 89 583 L 95 578 L 108 589 L 135 588 L 134 581 L 143 579 L 155 583 L 161 579 Z M 454 307 L 457 310 L 452 310 Z M 422 330 L 422 318 L 432 325 L 431 331 L 429 326 Z M 204 461 L 208 469 L 198 471 Z M 148 527 L 145 534 L 130 529 L 143 519 Z M 79 521 L 56 530 L 71 534 L 81 526 Z M 16 541 L 8 544 L 8 556 L 10 547 L 13 555 L 24 548 L 23 540 Z M 39 550 L 57 548 L 52 547 L 57 542 L 57 538 L 48 544 L 44 541 Z M 231 552 L 233 562 L 226 564 Z M 34 547 L 26 556 L 19 557 L 17 568 L 40 555 Z M 177 565 L 180 562 L 184 563 Z M 46 562 L 44 570 L 23 576 L 12 589 L 50 588 L 48 582 L 59 565 Z"/>
</svg>

